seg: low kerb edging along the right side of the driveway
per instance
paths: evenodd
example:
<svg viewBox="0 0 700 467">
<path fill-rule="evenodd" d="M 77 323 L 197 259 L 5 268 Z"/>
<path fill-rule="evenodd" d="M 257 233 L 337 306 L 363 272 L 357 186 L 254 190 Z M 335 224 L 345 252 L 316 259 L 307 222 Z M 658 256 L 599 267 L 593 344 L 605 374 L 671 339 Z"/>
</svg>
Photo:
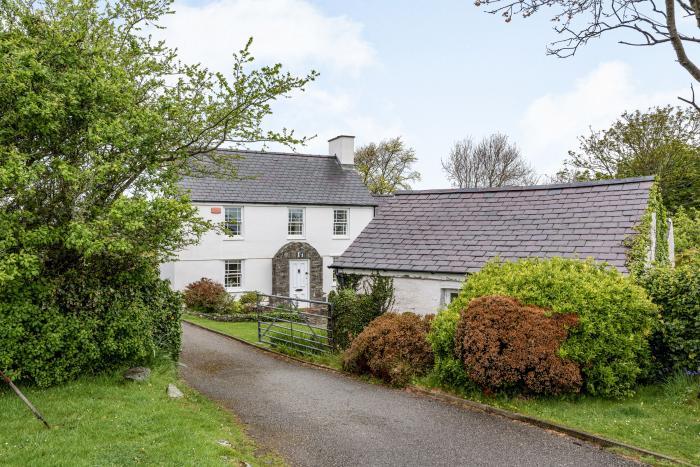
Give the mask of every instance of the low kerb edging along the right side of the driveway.
<svg viewBox="0 0 700 467">
<path fill-rule="evenodd" d="M 214 329 L 210 329 L 206 326 L 202 326 L 200 324 L 193 323 L 191 321 L 188 321 L 186 318 L 183 318 L 183 321 L 185 321 L 187 324 L 192 325 L 194 327 L 197 327 L 199 329 L 213 332 L 214 334 L 218 334 L 222 337 L 226 337 L 228 339 L 240 342 L 241 344 L 245 344 L 245 345 L 252 347 L 254 349 L 258 349 L 258 350 L 261 350 L 263 352 L 267 352 L 269 354 L 272 354 L 276 358 L 280 358 L 282 360 L 293 361 L 296 363 L 300 363 L 304 366 L 311 366 L 311 367 L 315 367 L 315 368 L 318 368 L 321 370 L 330 371 L 332 373 L 335 373 L 335 374 L 340 375 L 340 376 L 344 376 L 346 378 L 353 378 L 356 380 L 360 380 L 360 378 L 358 376 L 355 376 L 351 373 L 336 370 L 335 368 L 331 368 L 329 366 L 322 365 L 320 363 L 309 362 L 309 361 L 303 360 L 301 358 L 293 357 L 291 355 L 286 355 L 286 354 L 277 352 L 275 350 L 269 349 L 267 347 L 263 347 L 263 346 L 245 341 L 243 339 L 239 339 L 238 337 L 230 336 L 230 335 L 225 334 L 221 331 L 217 331 Z M 389 386 L 386 386 L 386 387 L 389 387 Z M 418 387 L 418 386 L 407 386 L 405 391 L 410 392 L 418 397 L 439 400 L 441 402 L 445 402 L 445 403 L 450 404 L 450 405 L 456 405 L 456 406 L 463 408 L 463 409 L 466 409 L 466 410 L 476 410 L 479 412 L 486 412 L 486 413 L 489 413 L 492 415 L 499 415 L 501 417 L 508 418 L 510 420 L 513 420 L 513 421 L 527 423 L 528 425 L 533 425 L 533 426 L 536 426 L 538 428 L 543 428 L 545 430 L 556 431 L 557 433 L 561 433 L 561 434 L 570 436 L 572 438 L 586 441 L 590 444 L 596 445 L 596 446 L 601 447 L 601 448 L 611 448 L 611 447 L 612 448 L 620 448 L 620 449 L 632 451 L 632 452 L 639 454 L 641 456 L 649 456 L 649 457 L 656 458 L 658 460 L 672 462 L 672 463 L 678 464 L 678 465 L 687 465 L 687 466 L 693 465 L 693 464 L 690 464 L 688 462 L 682 461 L 680 459 L 676 459 L 674 457 L 667 456 L 665 454 L 661 454 L 658 452 L 649 451 L 647 449 L 640 448 L 640 447 L 637 447 L 637 446 L 634 446 L 631 444 L 626 444 L 626 443 L 623 443 L 621 441 L 615 441 L 615 440 L 610 439 L 610 438 L 605 438 L 603 436 L 595 435 L 593 433 L 588 433 L 586 431 L 581 431 L 581 430 L 577 430 L 575 428 L 570 428 L 570 427 L 567 427 L 564 425 L 560 425 L 558 423 L 549 422 L 547 420 L 542 420 L 540 418 L 531 417 L 529 415 L 523 415 L 523 414 L 519 414 L 516 412 L 511 412 L 511 411 L 508 411 L 505 409 L 501 409 L 498 407 L 493 407 L 491 405 L 482 404 L 480 402 L 475 402 L 475 401 L 472 401 L 469 399 L 464 399 L 462 397 L 453 396 L 451 394 L 447 394 L 447 393 L 442 392 L 442 391 L 427 390 L 427 389 L 423 389 L 423 388 Z"/>
</svg>

